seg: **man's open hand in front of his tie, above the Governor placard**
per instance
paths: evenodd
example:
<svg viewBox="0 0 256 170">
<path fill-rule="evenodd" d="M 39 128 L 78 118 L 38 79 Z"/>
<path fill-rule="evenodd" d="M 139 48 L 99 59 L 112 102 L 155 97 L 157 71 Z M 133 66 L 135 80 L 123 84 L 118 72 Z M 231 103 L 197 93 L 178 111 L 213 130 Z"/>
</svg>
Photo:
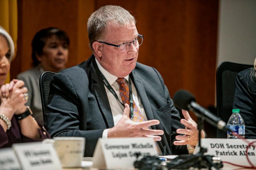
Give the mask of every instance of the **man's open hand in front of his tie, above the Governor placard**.
<svg viewBox="0 0 256 170">
<path fill-rule="evenodd" d="M 161 137 L 157 135 L 163 135 L 162 130 L 145 129 L 146 127 L 158 125 L 159 120 L 149 120 L 143 122 L 133 122 L 130 118 L 130 107 L 125 104 L 123 116 L 118 123 L 110 128 L 108 131 L 108 138 L 117 137 L 150 137 L 154 138 L 154 141 L 161 141 Z"/>
</svg>

